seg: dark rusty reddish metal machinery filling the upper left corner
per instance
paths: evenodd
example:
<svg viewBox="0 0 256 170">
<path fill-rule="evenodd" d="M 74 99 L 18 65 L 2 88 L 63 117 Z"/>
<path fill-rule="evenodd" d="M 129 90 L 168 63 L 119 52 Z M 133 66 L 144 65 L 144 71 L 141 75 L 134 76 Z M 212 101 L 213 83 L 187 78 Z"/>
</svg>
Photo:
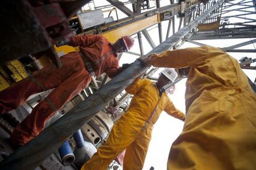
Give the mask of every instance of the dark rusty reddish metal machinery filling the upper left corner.
<svg viewBox="0 0 256 170">
<path fill-rule="evenodd" d="M 0 32 L 0 64 L 46 51 L 53 63 L 61 67 L 52 46 L 72 34 L 67 20 L 87 2 L 49 1 L 44 4 L 43 1 L 1 1 L 0 19 L 4 25 Z"/>
</svg>

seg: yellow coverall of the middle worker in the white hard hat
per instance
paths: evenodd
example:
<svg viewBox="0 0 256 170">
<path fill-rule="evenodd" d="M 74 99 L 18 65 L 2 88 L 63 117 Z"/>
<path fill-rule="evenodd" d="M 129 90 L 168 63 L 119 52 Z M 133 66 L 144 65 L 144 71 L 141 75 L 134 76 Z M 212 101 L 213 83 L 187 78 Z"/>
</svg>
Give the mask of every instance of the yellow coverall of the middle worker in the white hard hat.
<svg viewBox="0 0 256 170">
<path fill-rule="evenodd" d="M 105 170 L 126 148 L 124 170 L 141 170 L 151 139 L 151 129 L 160 113 L 164 110 L 175 118 L 185 119 L 184 113 L 174 107 L 165 92 L 160 98 L 158 88 L 149 79 L 135 80 L 126 91 L 134 94 L 129 109 L 114 124 L 106 143 L 98 148 L 98 152 L 87 163 L 83 164 L 82 169 Z M 158 108 L 150 119 L 157 104 Z M 145 126 L 147 121 L 148 126 Z"/>
</svg>

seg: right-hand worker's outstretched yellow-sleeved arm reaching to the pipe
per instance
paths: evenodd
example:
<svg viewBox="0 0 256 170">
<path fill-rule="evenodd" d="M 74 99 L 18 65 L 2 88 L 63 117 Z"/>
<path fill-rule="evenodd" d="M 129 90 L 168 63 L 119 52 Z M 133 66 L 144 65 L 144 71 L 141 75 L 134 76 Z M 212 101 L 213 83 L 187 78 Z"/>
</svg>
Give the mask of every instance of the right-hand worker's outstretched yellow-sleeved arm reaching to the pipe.
<svg viewBox="0 0 256 170">
<path fill-rule="evenodd" d="M 208 47 L 192 47 L 187 49 L 176 49 L 165 51 L 161 54 L 151 54 L 145 63 L 155 67 L 192 67 L 200 65 L 207 59 Z"/>
</svg>

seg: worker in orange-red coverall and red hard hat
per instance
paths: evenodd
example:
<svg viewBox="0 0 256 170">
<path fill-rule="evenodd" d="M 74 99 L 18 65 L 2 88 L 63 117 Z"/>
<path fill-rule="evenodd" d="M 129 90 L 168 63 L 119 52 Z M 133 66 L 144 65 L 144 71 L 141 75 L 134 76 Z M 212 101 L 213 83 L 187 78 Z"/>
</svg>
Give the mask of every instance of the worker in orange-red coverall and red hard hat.
<svg viewBox="0 0 256 170">
<path fill-rule="evenodd" d="M 92 77 L 85 68 L 87 63 L 90 63 L 95 76 L 106 73 L 109 78 L 113 78 L 117 75 L 122 70 L 119 67 L 117 54 L 128 51 L 133 46 L 134 39 L 124 36 L 111 44 L 102 35 L 82 34 L 65 39 L 56 46 L 65 44 L 79 46 L 80 52 L 70 52 L 62 56 L 61 68 L 51 64 L 0 92 L 2 114 L 19 107 L 32 94 L 54 89 L 14 129 L 10 139 L 13 145 L 24 145 L 36 137 L 43 131 L 45 122 L 54 115 L 55 111 L 88 86 Z"/>
</svg>

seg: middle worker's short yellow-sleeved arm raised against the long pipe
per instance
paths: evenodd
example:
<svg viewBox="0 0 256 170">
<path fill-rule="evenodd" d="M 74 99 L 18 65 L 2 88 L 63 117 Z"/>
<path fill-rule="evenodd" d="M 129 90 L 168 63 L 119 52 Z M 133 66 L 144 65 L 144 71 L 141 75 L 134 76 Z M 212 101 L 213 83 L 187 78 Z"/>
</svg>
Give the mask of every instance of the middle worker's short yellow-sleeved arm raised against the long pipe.
<svg viewBox="0 0 256 170">
<path fill-rule="evenodd" d="M 136 94 L 140 89 L 146 86 L 148 83 L 151 83 L 149 79 L 140 79 L 137 78 L 134 80 L 134 83 L 130 84 L 130 86 L 126 87 L 126 92 L 129 94 Z"/>
</svg>

